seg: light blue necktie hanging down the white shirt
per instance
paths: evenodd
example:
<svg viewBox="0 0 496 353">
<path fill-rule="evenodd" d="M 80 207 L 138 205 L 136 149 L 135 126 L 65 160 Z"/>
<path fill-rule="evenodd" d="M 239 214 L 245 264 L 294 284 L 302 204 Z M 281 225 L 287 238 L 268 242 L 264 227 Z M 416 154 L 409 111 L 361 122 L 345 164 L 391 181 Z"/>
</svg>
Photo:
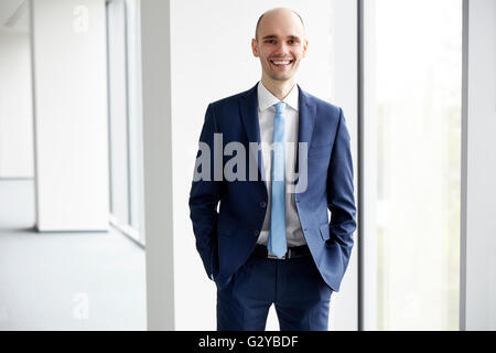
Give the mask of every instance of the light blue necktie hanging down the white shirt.
<svg viewBox="0 0 496 353">
<path fill-rule="evenodd" d="M 285 183 L 284 183 L 284 109 L 285 103 L 274 104 L 273 150 L 272 150 L 272 192 L 270 208 L 270 234 L 268 249 L 281 258 L 288 250 L 285 242 Z"/>
</svg>

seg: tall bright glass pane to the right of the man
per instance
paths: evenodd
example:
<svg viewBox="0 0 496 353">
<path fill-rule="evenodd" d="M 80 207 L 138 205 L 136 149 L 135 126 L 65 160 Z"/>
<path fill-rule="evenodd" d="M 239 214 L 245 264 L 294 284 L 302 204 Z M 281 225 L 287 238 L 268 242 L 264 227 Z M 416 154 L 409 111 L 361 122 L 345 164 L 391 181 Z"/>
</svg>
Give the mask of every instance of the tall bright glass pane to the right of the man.
<svg viewBox="0 0 496 353">
<path fill-rule="evenodd" d="M 462 1 L 377 0 L 377 329 L 459 328 Z"/>
</svg>

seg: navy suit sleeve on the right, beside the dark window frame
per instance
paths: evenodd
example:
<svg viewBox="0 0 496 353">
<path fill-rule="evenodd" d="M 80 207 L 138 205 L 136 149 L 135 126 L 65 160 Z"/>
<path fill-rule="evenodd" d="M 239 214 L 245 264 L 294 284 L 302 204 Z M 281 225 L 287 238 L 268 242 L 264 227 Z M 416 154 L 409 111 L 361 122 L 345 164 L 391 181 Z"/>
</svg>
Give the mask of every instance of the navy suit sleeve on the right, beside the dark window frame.
<svg viewBox="0 0 496 353">
<path fill-rule="evenodd" d="M 339 108 L 339 120 L 327 170 L 327 206 L 332 213 L 328 242 L 333 246 L 341 247 L 344 268 L 346 268 L 354 244 L 353 233 L 356 229 L 353 160 L 343 110 Z"/>
</svg>

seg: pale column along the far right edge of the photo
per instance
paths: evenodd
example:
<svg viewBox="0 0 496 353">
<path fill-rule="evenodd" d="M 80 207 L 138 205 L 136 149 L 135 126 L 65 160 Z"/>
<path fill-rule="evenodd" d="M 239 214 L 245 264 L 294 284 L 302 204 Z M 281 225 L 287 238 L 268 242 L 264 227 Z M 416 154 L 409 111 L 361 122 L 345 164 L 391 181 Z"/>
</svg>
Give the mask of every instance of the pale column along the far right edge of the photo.
<svg viewBox="0 0 496 353">
<path fill-rule="evenodd" d="M 496 2 L 464 2 L 461 330 L 496 330 Z"/>
</svg>

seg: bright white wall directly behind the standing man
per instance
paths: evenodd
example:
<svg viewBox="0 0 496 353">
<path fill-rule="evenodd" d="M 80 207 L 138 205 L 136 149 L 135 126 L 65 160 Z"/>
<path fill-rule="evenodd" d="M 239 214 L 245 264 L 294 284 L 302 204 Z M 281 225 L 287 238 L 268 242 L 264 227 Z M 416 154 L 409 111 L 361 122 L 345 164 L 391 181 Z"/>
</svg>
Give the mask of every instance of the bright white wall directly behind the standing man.
<svg viewBox="0 0 496 353">
<path fill-rule="evenodd" d="M 332 66 L 331 58 L 335 54 L 331 45 L 332 1 L 293 0 L 283 3 L 261 0 L 171 1 L 176 330 L 215 330 L 216 328 L 216 288 L 215 284 L 206 278 L 201 258 L 196 253 L 187 205 L 205 110 L 208 103 L 251 88 L 260 79 L 260 63 L 251 54 L 250 41 L 258 17 L 266 10 L 280 6 L 298 11 L 306 24 L 310 45 L 308 56 L 300 67 L 298 83 L 301 87 L 326 100 L 338 96 L 335 94 L 336 90 L 354 89 L 356 76 L 348 77 L 351 87 L 344 86 L 345 81 L 337 87 L 333 84 L 333 72 L 343 67 L 334 69 Z M 356 13 L 353 15 L 355 21 Z M 343 22 L 341 29 L 346 28 Z M 356 40 L 354 34 L 349 36 Z M 354 44 L 349 45 L 352 45 L 353 54 Z M 336 63 L 345 62 L 346 54 L 343 53 Z M 356 56 L 352 55 L 348 60 L 353 63 Z M 354 117 L 356 111 L 351 107 L 354 99 L 344 100 L 343 98 L 343 101 L 334 103 L 346 104 L 347 119 L 353 121 L 356 119 L 356 116 Z M 342 291 L 333 295 L 335 297 L 332 299 L 332 302 L 337 300 L 341 302 L 339 320 L 344 321 L 342 328 L 356 327 L 356 309 L 353 309 L 356 307 L 356 285 L 354 285 L 356 280 L 348 278 L 356 278 L 355 263 L 356 260 L 353 259 Z M 348 298 L 347 303 L 339 297 Z M 352 309 L 348 310 L 348 308 Z M 339 309 L 335 310 L 337 312 Z M 337 322 L 334 323 L 334 320 L 333 308 L 332 328 L 339 325 Z M 268 330 L 279 329 L 273 311 L 269 314 L 267 328 Z"/>
</svg>

